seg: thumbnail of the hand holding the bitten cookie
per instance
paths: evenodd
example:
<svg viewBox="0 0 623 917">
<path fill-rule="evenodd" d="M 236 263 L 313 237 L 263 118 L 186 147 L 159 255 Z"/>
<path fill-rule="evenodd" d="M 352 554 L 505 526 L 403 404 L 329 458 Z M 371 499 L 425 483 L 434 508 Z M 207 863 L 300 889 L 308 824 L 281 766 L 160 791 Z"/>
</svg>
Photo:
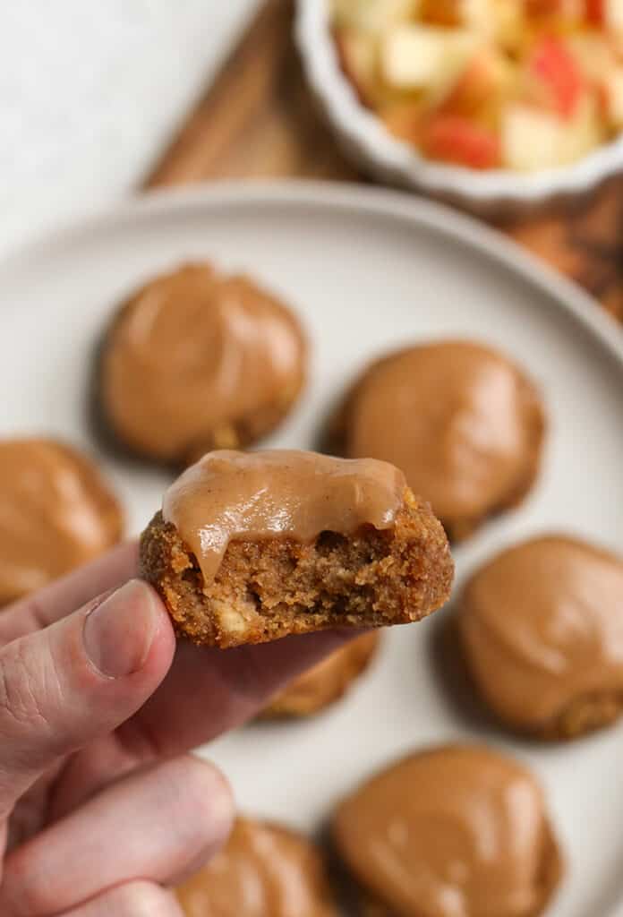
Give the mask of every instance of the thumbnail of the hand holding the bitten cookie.
<svg viewBox="0 0 623 917">
<path fill-rule="evenodd" d="M 93 608 L 82 639 L 93 667 L 107 678 L 122 678 L 145 665 L 158 616 L 147 583 L 130 580 Z"/>
</svg>

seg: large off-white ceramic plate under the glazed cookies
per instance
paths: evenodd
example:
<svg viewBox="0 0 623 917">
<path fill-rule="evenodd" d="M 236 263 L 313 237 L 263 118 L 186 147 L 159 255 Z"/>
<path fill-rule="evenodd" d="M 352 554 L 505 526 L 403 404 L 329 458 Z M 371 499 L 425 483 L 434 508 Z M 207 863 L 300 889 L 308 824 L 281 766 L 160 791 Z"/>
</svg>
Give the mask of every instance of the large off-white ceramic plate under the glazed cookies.
<svg viewBox="0 0 623 917">
<path fill-rule="evenodd" d="M 584 293 L 485 227 L 397 193 L 313 183 L 216 185 L 125 204 L 0 265 L 0 433 L 93 448 L 86 388 L 115 304 L 157 271 L 209 257 L 282 294 L 312 337 L 312 381 L 266 445 L 311 447 L 367 359 L 405 341 L 468 336 L 517 359 L 551 418 L 540 481 L 518 511 L 454 552 L 457 580 L 521 536 L 565 529 L 623 547 L 623 335 Z M 137 532 L 168 476 L 102 457 Z M 568 862 L 552 917 L 623 900 L 623 726 L 570 745 L 475 731 L 432 665 L 434 617 L 398 627 L 347 700 L 310 722 L 256 724 L 207 753 L 257 812 L 312 830 L 334 801 L 408 749 L 486 739 L 544 783 Z M 621 911 L 623 912 L 623 908 Z"/>
</svg>

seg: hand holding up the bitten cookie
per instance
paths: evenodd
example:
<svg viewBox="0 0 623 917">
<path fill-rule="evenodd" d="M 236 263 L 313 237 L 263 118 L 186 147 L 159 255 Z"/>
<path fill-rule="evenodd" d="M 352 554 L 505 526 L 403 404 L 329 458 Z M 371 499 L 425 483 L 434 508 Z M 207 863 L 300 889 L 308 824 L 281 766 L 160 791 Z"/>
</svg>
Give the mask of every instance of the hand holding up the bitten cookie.
<svg viewBox="0 0 623 917">
<path fill-rule="evenodd" d="M 224 778 L 186 752 L 346 639 L 176 647 L 136 570 L 119 547 L 0 613 L 3 917 L 180 917 L 167 886 L 233 818 Z"/>
</svg>

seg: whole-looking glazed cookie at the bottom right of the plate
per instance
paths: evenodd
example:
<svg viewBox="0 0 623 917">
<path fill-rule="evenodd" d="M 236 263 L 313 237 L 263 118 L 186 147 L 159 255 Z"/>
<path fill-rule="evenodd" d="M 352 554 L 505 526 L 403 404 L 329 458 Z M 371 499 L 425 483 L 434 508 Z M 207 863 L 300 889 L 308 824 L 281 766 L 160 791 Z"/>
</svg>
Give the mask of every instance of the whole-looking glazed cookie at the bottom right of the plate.
<svg viewBox="0 0 623 917">
<path fill-rule="evenodd" d="M 333 818 L 338 853 L 383 917 L 538 917 L 562 873 L 541 789 L 485 746 L 417 752 Z"/>
</svg>

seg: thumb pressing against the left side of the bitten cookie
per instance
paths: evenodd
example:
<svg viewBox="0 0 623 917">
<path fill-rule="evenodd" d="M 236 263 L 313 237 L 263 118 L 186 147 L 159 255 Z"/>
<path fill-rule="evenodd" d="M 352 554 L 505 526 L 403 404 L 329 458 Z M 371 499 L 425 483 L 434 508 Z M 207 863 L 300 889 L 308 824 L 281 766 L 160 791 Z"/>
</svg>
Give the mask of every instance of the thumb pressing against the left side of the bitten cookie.
<svg viewBox="0 0 623 917">
<path fill-rule="evenodd" d="M 155 591 L 130 580 L 0 651 L 0 818 L 54 764 L 112 732 L 156 690 L 175 639 Z"/>
</svg>

